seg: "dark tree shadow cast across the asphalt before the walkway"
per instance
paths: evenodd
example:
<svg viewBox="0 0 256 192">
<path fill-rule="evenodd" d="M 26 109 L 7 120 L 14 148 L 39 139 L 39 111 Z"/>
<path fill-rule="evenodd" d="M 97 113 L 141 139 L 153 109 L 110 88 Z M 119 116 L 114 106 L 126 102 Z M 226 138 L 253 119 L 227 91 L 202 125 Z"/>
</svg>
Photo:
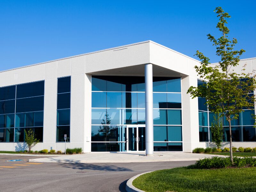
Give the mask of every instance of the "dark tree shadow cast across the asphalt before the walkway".
<svg viewBox="0 0 256 192">
<path fill-rule="evenodd" d="M 116 165 L 108 165 L 108 164 L 85 164 L 85 163 L 71 163 L 71 164 L 60 164 L 62 167 L 78 169 L 78 170 L 97 170 L 97 171 L 130 171 L 133 170 L 125 167 L 120 167 Z"/>
</svg>

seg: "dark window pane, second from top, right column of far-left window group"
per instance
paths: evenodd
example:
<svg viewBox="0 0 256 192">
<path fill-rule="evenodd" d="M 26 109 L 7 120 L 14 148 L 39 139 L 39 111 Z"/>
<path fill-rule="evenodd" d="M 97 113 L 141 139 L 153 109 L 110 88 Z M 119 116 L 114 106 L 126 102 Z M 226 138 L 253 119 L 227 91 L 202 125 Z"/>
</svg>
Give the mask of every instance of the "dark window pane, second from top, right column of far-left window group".
<svg viewBox="0 0 256 192">
<path fill-rule="evenodd" d="M 16 100 L 16 113 L 43 111 L 44 110 L 44 96 L 31 97 Z"/>
</svg>

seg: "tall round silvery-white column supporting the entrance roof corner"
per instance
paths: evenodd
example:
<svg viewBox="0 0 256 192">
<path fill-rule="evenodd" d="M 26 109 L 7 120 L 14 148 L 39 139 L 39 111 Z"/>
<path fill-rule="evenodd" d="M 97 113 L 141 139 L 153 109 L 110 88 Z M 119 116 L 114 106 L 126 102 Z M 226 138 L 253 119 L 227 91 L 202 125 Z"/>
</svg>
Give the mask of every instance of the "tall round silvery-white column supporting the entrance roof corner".
<svg viewBox="0 0 256 192">
<path fill-rule="evenodd" d="M 145 64 L 145 104 L 146 104 L 146 156 L 154 155 L 153 135 L 153 69 Z"/>
</svg>

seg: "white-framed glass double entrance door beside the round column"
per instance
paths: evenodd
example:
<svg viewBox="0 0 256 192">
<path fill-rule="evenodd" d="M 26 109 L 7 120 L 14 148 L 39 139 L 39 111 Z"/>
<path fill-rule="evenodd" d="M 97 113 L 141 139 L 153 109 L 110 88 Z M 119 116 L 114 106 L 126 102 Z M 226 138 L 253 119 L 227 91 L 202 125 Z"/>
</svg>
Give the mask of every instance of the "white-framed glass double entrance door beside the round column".
<svg viewBox="0 0 256 192">
<path fill-rule="evenodd" d="M 127 126 L 127 146 L 128 151 L 145 151 L 146 138 L 145 127 L 143 126 Z"/>
</svg>

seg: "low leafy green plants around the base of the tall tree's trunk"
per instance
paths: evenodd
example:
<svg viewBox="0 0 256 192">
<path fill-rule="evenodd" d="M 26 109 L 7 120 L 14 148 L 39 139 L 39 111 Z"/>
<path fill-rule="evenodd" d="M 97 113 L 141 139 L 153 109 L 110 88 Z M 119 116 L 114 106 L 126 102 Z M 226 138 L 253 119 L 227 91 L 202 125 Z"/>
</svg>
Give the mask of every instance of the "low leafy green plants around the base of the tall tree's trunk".
<svg viewBox="0 0 256 192">
<path fill-rule="evenodd" d="M 235 167 L 256 166 L 256 158 L 253 157 L 233 157 Z M 195 168 L 211 169 L 232 166 L 230 157 L 209 157 L 196 161 Z"/>
</svg>

